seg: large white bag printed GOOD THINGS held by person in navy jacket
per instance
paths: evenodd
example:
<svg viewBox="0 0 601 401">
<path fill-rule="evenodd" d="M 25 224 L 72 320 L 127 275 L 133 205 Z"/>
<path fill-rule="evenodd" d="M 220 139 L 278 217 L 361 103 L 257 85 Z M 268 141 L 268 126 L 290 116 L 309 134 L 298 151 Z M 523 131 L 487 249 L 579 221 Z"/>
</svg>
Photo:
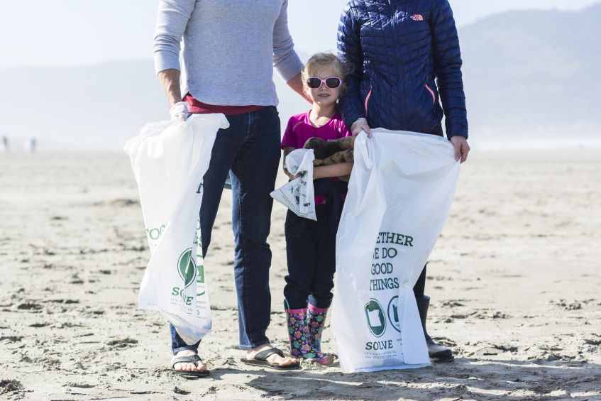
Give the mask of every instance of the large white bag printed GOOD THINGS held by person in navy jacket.
<svg viewBox="0 0 601 401">
<path fill-rule="evenodd" d="M 343 372 L 429 365 L 413 286 L 458 174 L 444 138 L 376 129 L 356 139 L 336 236 L 332 331 Z"/>
</svg>

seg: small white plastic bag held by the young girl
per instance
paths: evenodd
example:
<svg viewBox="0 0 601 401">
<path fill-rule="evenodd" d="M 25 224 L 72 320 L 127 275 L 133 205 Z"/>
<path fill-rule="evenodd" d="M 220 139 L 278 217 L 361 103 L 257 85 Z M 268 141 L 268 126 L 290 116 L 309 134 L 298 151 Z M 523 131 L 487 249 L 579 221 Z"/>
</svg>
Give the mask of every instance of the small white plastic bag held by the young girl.
<svg viewBox="0 0 601 401">
<path fill-rule="evenodd" d="M 292 150 L 286 156 L 286 168 L 298 178 L 271 192 L 271 197 L 297 216 L 317 220 L 315 190 L 313 188 L 313 149 Z"/>
</svg>

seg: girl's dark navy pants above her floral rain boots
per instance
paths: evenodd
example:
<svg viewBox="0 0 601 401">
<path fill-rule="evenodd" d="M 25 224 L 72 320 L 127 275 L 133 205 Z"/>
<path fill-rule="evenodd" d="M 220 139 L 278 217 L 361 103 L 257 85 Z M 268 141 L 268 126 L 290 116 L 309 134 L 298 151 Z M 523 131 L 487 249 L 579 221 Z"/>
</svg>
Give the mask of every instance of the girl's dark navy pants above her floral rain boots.
<svg viewBox="0 0 601 401">
<path fill-rule="evenodd" d="M 288 275 L 284 297 L 289 309 L 304 309 L 307 302 L 327 308 L 336 271 L 336 232 L 332 232 L 328 205 L 316 207 L 317 221 L 288 211 L 286 215 L 286 256 Z"/>
</svg>

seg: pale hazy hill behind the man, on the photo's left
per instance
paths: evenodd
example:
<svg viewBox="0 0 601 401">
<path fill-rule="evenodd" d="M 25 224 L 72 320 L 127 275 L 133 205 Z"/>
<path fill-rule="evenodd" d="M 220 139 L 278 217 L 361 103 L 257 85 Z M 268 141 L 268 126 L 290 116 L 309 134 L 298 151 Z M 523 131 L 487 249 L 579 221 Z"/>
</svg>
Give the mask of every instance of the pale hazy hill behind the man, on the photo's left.
<svg viewBox="0 0 601 401">
<path fill-rule="evenodd" d="M 309 109 L 282 79 L 275 82 L 286 99 L 284 123 L 292 112 Z M 0 88 L 0 136 L 17 145 L 33 136 L 41 149 L 119 150 L 145 123 L 169 119 L 150 59 L 4 69 Z"/>
</svg>

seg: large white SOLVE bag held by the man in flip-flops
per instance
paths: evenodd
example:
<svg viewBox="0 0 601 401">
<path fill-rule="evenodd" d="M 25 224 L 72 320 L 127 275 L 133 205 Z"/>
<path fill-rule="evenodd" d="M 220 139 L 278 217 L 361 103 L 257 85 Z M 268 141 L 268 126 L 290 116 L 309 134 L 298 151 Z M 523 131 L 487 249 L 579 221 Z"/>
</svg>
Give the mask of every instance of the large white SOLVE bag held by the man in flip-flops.
<svg viewBox="0 0 601 401">
<path fill-rule="evenodd" d="M 216 134 L 228 126 L 223 114 L 150 123 L 124 149 L 138 182 L 151 253 L 138 307 L 159 310 L 187 344 L 211 330 L 204 265 L 197 260 L 198 216 Z"/>
</svg>

